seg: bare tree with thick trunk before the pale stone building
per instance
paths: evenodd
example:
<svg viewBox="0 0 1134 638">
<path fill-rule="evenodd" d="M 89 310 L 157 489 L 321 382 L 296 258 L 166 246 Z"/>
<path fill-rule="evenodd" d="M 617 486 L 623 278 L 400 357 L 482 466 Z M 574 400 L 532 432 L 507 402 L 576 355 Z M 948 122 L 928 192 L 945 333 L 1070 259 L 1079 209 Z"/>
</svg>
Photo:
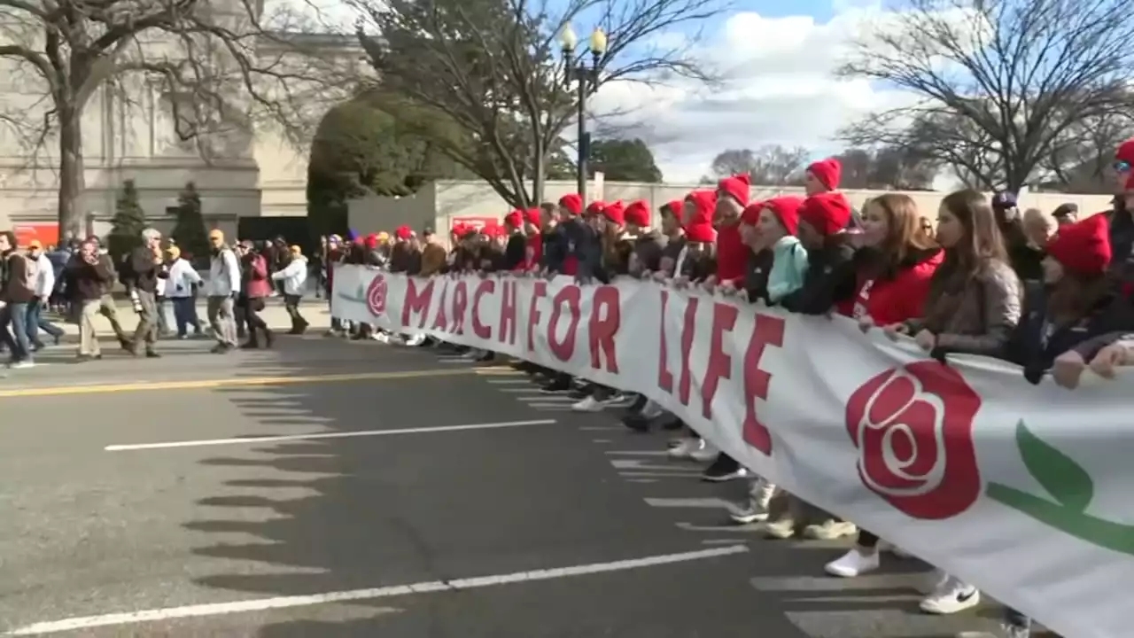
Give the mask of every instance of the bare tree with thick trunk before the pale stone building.
<svg viewBox="0 0 1134 638">
<path fill-rule="evenodd" d="M 294 24 L 272 17 L 274 26 Z M 341 74 L 264 25 L 254 0 L 0 0 L 0 61 L 20 87 L 0 124 L 33 168 L 56 146 L 64 236 L 83 233 L 82 123 L 100 89 L 124 100 L 156 94 L 185 141 L 204 144 L 222 123 L 247 129 L 261 118 L 306 135 L 312 96 L 325 94 L 312 83 Z"/>
</svg>

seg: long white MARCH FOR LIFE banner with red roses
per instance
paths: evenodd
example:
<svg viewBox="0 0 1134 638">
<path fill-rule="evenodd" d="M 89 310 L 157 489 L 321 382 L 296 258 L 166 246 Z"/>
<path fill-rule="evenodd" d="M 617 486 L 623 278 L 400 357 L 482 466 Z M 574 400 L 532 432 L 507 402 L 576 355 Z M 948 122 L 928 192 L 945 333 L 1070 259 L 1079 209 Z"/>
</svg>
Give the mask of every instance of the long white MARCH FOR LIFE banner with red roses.
<svg viewBox="0 0 1134 638">
<path fill-rule="evenodd" d="M 642 393 L 756 473 L 1067 638 L 1126 638 L 1134 376 L 987 358 L 650 282 L 335 274 L 332 313 Z M 1084 376 L 1086 377 L 1086 376 Z"/>
</svg>

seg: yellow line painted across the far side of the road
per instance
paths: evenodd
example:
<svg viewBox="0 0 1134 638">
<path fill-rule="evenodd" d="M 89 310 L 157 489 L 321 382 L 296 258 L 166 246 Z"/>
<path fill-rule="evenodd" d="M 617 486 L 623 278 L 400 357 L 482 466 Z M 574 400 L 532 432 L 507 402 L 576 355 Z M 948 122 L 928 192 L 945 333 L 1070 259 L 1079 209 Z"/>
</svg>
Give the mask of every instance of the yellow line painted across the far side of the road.
<svg viewBox="0 0 1134 638">
<path fill-rule="evenodd" d="M 308 375 L 299 377 L 235 377 L 229 379 L 194 379 L 183 381 L 136 381 L 129 384 L 69 385 L 24 387 L 0 391 L 0 397 L 59 396 L 67 394 L 96 394 L 117 392 L 145 392 L 160 389 L 212 389 L 249 386 L 285 386 L 296 384 L 330 384 L 336 381 L 418 379 L 473 375 L 475 369 L 403 370 L 400 372 L 350 372 L 345 375 Z"/>
</svg>

